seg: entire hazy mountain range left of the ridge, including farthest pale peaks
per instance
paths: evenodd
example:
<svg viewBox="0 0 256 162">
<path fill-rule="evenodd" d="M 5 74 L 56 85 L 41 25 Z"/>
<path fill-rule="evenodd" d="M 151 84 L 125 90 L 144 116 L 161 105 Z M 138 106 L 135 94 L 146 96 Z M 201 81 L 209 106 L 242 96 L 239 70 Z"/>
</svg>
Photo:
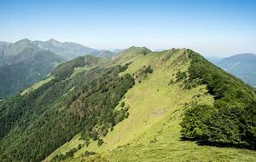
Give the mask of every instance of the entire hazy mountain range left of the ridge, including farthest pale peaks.
<svg viewBox="0 0 256 162">
<path fill-rule="evenodd" d="M 82 55 L 112 58 L 115 53 L 55 39 L 43 42 L 25 38 L 15 43 L 0 42 L 0 98 L 23 90 L 45 78 L 61 62 Z"/>
</svg>

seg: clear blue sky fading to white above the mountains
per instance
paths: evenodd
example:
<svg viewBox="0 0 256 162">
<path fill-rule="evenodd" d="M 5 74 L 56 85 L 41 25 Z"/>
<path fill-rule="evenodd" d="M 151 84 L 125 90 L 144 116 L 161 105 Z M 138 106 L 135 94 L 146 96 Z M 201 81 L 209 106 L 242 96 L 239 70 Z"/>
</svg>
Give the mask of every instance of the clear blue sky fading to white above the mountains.
<svg viewBox="0 0 256 162">
<path fill-rule="evenodd" d="M 0 41 L 256 54 L 255 0 L 0 0 Z"/>
</svg>

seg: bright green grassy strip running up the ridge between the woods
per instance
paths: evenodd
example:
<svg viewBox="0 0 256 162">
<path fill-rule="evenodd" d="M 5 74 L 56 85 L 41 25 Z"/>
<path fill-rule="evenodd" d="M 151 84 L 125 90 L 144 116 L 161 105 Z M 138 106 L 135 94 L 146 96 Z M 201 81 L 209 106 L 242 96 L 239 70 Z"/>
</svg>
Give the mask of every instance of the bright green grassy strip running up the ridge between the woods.
<svg viewBox="0 0 256 162">
<path fill-rule="evenodd" d="M 213 96 L 207 93 L 206 85 L 184 90 L 182 82 L 175 82 L 176 73 L 187 72 L 190 59 L 186 49 L 172 49 L 153 53 L 145 48 L 126 49 L 118 55 L 115 64 L 132 62 L 120 76 L 130 73 L 136 84 L 128 90 L 119 105 L 125 102 L 129 118 L 123 120 L 104 136 L 103 144 L 90 142 L 89 146 L 73 137 L 61 148 L 51 153 L 45 161 L 57 154 L 65 154 L 72 148 L 80 148 L 73 158 L 66 161 L 254 161 L 256 153 L 247 149 L 199 146 L 196 142 L 181 141 L 180 123 L 183 113 L 190 105 L 213 104 Z M 143 73 L 145 66 L 154 69 Z M 171 82 L 174 81 L 174 83 Z M 84 156 L 86 151 L 96 156 Z M 98 157 L 102 158 L 98 158 Z"/>
</svg>

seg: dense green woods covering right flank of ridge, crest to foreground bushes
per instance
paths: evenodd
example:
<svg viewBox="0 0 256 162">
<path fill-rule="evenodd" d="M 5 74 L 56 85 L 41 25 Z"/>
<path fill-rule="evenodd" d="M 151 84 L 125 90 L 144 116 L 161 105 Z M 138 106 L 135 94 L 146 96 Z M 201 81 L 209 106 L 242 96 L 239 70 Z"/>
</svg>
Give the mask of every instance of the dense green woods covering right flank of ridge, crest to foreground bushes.
<svg viewBox="0 0 256 162">
<path fill-rule="evenodd" d="M 255 90 L 201 55 L 187 52 L 192 61 L 186 84 L 207 84 L 214 103 L 194 104 L 185 113 L 181 124 L 183 137 L 205 144 L 255 149 Z"/>
</svg>

